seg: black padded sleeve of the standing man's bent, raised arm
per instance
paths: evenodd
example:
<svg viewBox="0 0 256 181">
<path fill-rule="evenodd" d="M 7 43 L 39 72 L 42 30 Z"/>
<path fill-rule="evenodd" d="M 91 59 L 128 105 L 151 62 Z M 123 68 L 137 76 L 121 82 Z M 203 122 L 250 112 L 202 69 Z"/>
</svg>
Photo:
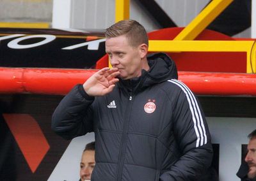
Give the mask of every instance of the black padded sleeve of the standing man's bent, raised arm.
<svg viewBox="0 0 256 181">
<path fill-rule="evenodd" d="M 75 86 L 60 102 L 52 114 L 51 128 L 65 139 L 72 139 L 93 131 L 92 102 L 83 89 Z"/>
</svg>

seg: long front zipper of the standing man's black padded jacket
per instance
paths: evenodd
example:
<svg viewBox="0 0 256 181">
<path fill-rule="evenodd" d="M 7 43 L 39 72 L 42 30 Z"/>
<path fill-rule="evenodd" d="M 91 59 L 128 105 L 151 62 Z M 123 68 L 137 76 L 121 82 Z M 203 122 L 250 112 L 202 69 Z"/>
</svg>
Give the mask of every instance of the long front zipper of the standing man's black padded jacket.
<svg viewBox="0 0 256 181">
<path fill-rule="evenodd" d="M 127 146 L 127 132 L 128 132 L 128 125 L 129 125 L 131 107 L 132 107 L 132 95 L 130 95 L 129 100 L 130 101 L 129 101 L 128 112 L 127 112 L 128 116 L 124 122 L 124 127 L 123 127 L 124 132 L 122 134 L 122 139 L 121 139 L 121 152 L 118 158 L 118 171 L 117 171 L 116 181 L 119 181 L 122 178 L 122 172 L 124 167 L 124 153 Z"/>
</svg>

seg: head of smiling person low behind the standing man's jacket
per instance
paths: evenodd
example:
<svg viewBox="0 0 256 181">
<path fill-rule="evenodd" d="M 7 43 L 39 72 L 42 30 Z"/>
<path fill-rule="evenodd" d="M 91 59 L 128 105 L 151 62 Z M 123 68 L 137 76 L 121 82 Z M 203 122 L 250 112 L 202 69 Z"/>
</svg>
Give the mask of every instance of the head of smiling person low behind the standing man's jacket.
<svg viewBox="0 0 256 181">
<path fill-rule="evenodd" d="M 95 141 L 88 143 L 83 151 L 80 163 L 81 181 L 90 180 L 95 166 Z"/>
</svg>

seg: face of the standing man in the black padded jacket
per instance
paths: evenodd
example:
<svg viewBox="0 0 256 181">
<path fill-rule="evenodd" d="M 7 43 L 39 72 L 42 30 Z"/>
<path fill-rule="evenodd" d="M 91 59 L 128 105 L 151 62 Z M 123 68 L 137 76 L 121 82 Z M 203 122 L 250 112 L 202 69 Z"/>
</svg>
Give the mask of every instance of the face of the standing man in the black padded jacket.
<svg viewBox="0 0 256 181">
<path fill-rule="evenodd" d="M 144 44 L 145 45 L 145 44 Z M 106 39 L 106 53 L 112 67 L 118 68 L 122 79 L 140 77 L 143 68 L 141 45 L 132 47 L 125 35 Z"/>
</svg>

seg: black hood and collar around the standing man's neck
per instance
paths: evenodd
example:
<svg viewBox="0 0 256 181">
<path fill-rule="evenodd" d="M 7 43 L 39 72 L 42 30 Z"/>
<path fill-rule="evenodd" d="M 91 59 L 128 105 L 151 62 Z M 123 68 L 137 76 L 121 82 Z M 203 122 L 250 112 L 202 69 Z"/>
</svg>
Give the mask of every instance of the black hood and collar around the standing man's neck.
<svg viewBox="0 0 256 181">
<path fill-rule="evenodd" d="M 175 62 L 164 53 L 149 54 L 147 56 L 148 71 L 142 70 L 141 76 L 129 80 L 120 79 L 120 88 L 131 88 L 140 91 L 148 86 L 159 84 L 169 79 L 178 79 Z"/>
</svg>

